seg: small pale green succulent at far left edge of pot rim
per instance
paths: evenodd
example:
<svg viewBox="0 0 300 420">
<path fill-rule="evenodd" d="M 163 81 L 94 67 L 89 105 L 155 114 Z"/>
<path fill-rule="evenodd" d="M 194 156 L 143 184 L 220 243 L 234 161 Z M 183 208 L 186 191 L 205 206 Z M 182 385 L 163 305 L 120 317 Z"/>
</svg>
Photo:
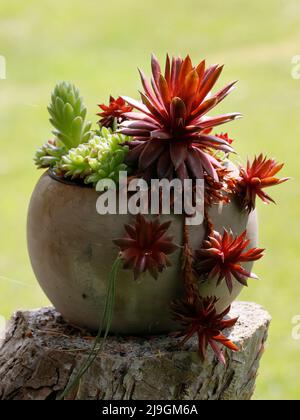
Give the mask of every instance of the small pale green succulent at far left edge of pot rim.
<svg viewBox="0 0 300 420">
<path fill-rule="evenodd" d="M 38 168 L 53 168 L 65 153 L 66 149 L 57 140 L 49 140 L 36 151 L 34 162 Z"/>
</svg>

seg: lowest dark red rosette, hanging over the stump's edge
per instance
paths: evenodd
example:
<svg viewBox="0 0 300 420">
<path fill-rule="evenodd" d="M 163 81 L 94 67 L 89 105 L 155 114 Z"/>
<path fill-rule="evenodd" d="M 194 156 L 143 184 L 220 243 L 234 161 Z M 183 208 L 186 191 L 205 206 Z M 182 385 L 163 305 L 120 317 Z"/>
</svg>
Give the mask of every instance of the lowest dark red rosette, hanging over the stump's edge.
<svg viewBox="0 0 300 420">
<path fill-rule="evenodd" d="M 201 359 L 205 360 L 207 348 L 210 346 L 218 360 L 225 364 L 225 357 L 219 345 L 232 351 L 239 351 L 239 348 L 222 334 L 222 331 L 232 328 L 238 318 L 225 319 L 230 307 L 218 314 L 215 308 L 217 301 L 215 297 L 205 299 L 198 297 L 194 302 L 175 301 L 171 308 L 174 319 L 179 321 L 183 327 L 181 332 L 176 333 L 176 336 L 184 337 L 181 344 L 185 344 L 194 335 L 197 335 Z"/>
</svg>

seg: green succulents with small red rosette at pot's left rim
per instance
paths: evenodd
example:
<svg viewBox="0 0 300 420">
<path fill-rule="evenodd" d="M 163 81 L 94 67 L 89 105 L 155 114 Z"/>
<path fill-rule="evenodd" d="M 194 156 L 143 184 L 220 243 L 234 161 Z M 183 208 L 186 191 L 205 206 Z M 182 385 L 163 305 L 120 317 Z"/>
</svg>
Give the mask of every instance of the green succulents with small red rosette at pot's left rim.
<svg viewBox="0 0 300 420">
<path fill-rule="evenodd" d="M 120 171 L 130 172 L 124 162 L 128 146 L 122 145 L 129 143 L 130 138 L 116 131 L 118 121 L 123 121 L 118 107 L 131 109 L 123 102 L 111 97 L 107 111 L 110 115 L 100 129 L 93 131 L 91 123 L 86 122 L 87 108 L 78 89 L 67 82 L 58 83 L 48 107 L 55 138 L 37 150 L 36 166 L 51 168 L 58 176 L 85 184 L 96 185 L 104 178 L 117 183 Z"/>
</svg>

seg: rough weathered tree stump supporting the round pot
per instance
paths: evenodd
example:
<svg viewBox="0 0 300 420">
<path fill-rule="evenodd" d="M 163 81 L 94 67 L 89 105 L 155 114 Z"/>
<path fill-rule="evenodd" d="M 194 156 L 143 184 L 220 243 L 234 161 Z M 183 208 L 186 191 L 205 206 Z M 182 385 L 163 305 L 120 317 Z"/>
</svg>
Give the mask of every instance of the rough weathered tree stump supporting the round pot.
<svg viewBox="0 0 300 420">
<path fill-rule="evenodd" d="M 270 316 L 248 302 L 234 303 L 230 315 L 240 316 L 228 335 L 241 351 L 225 350 L 226 366 L 217 362 L 211 350 L 201 362 L 196 338 L 180 348 L 180 339 L 167 335 L 109 337 L 70 398 L 249 400 Z M 16 312 L 0 349 L 0 399 L 56 399 L 92 343 L 93 337 L 68 325 L 52 308 Z"/>
</svg>

